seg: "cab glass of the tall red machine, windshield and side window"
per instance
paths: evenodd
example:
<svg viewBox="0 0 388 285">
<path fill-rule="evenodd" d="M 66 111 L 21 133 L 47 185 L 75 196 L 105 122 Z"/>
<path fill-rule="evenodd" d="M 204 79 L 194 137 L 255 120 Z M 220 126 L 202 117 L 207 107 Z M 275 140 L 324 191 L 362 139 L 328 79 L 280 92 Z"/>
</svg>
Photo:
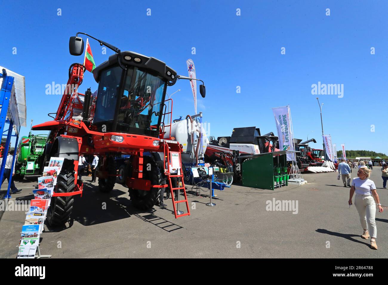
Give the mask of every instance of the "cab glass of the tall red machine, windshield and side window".
<svg viewBox="0 0 388 285">
<path fill-rule="evenodd" d="M 98 128 L 105 124 L 105 131 L 157 137 L 165 89 L 161 76 L 137 67 L 102 71 L 94 123 Z"/>
</svg>

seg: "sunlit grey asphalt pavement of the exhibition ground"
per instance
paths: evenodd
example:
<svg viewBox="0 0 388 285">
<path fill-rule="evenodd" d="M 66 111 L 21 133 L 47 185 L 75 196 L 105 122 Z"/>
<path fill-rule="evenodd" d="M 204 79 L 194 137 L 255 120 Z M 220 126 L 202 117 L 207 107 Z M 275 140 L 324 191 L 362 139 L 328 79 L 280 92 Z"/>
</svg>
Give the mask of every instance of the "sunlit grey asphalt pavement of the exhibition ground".
<svg viewBox="0 0 388 285">
<path fill-rule="evenodd" d="M 336 176 L 334 172 L 303 173 L 307 184 L 274 191 L 233 185 L 215 192 L 215 207 L 206 206 L 209 197 L 189 191 L 191 215 L 178 219 L 172 214 L 171 199 L 165 201 L 165 208 L 138 211 L 122 185 L 116 183 L 111 193 L 100 193 L 97 183 L 86 181 L 83 197 L 74 201 L 73 225 L 45 225 L 40 249 L 53 258 L 388 258 L 388 209 L 376 211 L 379 249 L 372 250 L 370 240 L 360 237 L 357 210 L 348 206 L 350 188 L 342 187 Z M 352 177 L 357 177 L 355 169 Z M 371 179 L 381 204 L 388 205 L 379 167 L 373 168 Z M 12 199 L 33 198 L 35 186 L 36 182 L 17 182 L 16 187 L 23 191 Z M 294 207 L 268 211 L 274 200 L 275 205 L 277 200 L 291 201 Z M 24 217 L 24 211 L 3 212 L 0 257 L 16 257 Z"/>
</svg>

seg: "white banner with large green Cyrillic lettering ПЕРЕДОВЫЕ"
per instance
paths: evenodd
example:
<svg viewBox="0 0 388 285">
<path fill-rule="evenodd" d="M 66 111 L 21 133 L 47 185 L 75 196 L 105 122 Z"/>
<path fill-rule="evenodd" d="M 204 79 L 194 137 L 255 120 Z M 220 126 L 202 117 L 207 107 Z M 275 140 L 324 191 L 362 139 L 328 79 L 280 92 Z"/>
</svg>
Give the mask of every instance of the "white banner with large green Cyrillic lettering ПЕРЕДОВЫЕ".
<svg viewBox="0 0 388 285">
<path fill-rule="evenodd" d="M 291 128 L 291 112 L 289 105 L 272 108 L 276 121 L 277 136 L 280 150 L 295 150 L 294 135 Z M 294 155 L 287 154 L 287 160 L 292 161 Z"/>
</svg>

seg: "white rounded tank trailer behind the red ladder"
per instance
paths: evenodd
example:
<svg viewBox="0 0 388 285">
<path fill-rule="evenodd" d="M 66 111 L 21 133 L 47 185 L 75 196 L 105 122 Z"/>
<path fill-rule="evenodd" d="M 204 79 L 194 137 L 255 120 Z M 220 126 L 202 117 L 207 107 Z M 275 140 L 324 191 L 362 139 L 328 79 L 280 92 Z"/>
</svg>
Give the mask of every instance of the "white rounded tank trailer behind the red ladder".
<svg viewBox="0 0 388 285">
<path fill-rule="evenodd" d="M 168 139 L 170 136 L 170 127 L 165 127 L 163 138 Z M 202 132 L 202 143 L 199 145 L 199 138 Z M 187 116 L 186 119 L 174 121 L 171 125 L 171 139 L 179 142 L 182 149 L 182 163 L 196 163 L 197 159 L 203 159 L 208 137 L 204 128 L 194 118 Z M 202 147 L 202 148 L 201 148 Z"/>
</svg>

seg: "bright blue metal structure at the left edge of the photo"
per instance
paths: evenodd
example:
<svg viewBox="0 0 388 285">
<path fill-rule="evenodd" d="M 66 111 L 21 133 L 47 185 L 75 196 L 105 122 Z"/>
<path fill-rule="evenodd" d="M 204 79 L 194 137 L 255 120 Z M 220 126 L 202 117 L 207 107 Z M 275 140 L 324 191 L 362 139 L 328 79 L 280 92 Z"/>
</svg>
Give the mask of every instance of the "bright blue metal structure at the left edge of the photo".
<svg viewBox="0 0 388 285">
<path fill-rule="evenodd" d="M 10 190 L 10 186 L 12 183 L 12 172 L 14 170 L 14 165 L 15 165 L 15 156 L 16 156 L 17 141 L 19 140 L 20 123 L 16 124 L 16 126 L 17 126 L 16 134 L 12 135 L 12 130 L 14 128 L 14 122 L 12 120 L 12 116 L 9 116 L 9 109 L 10 109 L 10 104 L 16 104 L 16 101 L 11 100 L 15 78 L 12 76 L 8 76 L 7 71 L 5 69 L 2 70 L 0 77 L 2 78 L 2 85 L 1 85 L 1 89 L 0 89 L 0 108 L 1 108 L 1 111 L 0 111 L 0 132 L 1 132 L 2 136 L 7 137 L 7 141 L 6 141 L 5 147 L 4 147 L 2 164 L 0 167 L 0 181 L 3 181 L 5 162 L 7 161 L 7 154 L 8 154 L 9 147 L 10 147 L 11 137 L 16 136 L 15 152 L 14 152 L 12 167 L 11 167 L 11 171 L 10 171 L 11 174 L 10 174 L 10 178 L 8 181 L 7 194 L 4 196 L 4 199 L 9 199 L 11 197 L 9 190 Z M 13 109 L 17 110 L 17 108 L 13 108 Z M 6 124 L 9 124 L 8 130 L 5 128 Z"/>
</svg>

